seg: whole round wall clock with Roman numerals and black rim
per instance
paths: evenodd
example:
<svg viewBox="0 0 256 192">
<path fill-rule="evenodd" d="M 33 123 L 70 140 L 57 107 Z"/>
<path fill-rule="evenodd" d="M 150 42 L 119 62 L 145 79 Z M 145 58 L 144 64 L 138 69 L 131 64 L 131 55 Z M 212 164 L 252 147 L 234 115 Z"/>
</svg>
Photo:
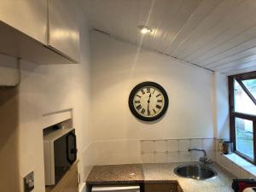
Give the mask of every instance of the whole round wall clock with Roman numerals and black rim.
<svg viewBox="0 0 256 192">
<path fill-rule="evenodd" d="M 129 108 L 138 119 L 153 121 L 160 119 L 168 108 L 166 90 L 154 82 L 137 84 L 129 96 Z"/>
</svg>

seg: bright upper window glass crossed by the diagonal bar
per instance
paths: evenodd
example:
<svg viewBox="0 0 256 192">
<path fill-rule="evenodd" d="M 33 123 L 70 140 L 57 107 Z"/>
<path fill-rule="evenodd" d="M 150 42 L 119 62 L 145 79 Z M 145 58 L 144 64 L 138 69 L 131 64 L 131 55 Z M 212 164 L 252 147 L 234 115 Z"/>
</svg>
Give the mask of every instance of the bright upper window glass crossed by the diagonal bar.
<svg viewBox="0 0 256 192">
<path fill-rule="evenodd" d="M 254 84 L 254 83 L 253 83 Z M 250 86 L 250 89 L 253 86 Z M 251 90 L 253 90 L 252 88 Z M 253 93 L 255 94 L 254 90 Z M 235 80 L 234 84 L 235 95 L 235 111 L 239 113 L 256 114 L 256 106 L 253 101 L 247 96 L 247 93 L 241 88 L 240 84 Z"/>
</svg>

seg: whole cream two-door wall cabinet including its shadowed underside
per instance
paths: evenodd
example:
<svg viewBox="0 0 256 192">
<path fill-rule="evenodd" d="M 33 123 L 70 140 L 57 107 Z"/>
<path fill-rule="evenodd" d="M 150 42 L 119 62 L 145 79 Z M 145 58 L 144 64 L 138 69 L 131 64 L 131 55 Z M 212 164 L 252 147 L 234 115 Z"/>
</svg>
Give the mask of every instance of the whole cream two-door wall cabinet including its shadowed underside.
<svg viewBox="0 0 256 192">
<path fill-rule="evenodd" d="M 1 0 L 0 54 L 38 64 L 79 62 L 79 24 L 69 0 Z"/>
</svg>

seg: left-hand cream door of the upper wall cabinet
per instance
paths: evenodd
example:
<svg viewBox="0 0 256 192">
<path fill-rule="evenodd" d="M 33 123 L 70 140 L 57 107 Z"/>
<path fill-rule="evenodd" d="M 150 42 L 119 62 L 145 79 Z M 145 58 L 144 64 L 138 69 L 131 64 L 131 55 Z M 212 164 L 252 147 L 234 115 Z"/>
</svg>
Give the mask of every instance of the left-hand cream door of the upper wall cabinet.
<svg viewBox="0 0 256 192">
<path fill-rule="evenodd" d="M 0 20 L 47 43 L 47 0 L 0 0 Z"/>
</svg>

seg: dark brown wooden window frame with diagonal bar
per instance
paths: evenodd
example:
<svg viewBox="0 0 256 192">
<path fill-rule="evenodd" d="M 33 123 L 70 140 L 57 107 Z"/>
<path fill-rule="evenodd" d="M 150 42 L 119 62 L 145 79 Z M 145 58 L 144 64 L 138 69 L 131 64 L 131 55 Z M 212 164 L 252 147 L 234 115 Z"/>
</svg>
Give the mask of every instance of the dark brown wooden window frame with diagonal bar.
<svg viewBox="0 0 256 192">
<path fill-rule="evenodd" d="M 256 100 L 253 95 L 247 90 L 246 86 L 241 83 L 242 80 L 247 79 L 256 79 L 256 71 L 250 73 L 241 73 L 236 75 L 231 75 L 228 77 L 229 83 L 229 104 L 230 104 L 230 141 L 234 143 L 234 153 L 238 154 L 245 160 L 256 165 L 256 115 L 248 114 L 248 113 L 238 113 L 235 112 L 235 102 L 234 102 L 234 82 L 238 82 L 241 85 L 242 90 L 247 93 L 247 96 L 253 101 L 256 105 Z M 236 150 L 236 118 L 247 119 L 253 121 L 253 157 L 254 160 L 248 157 L 246 154 L 242 154 L 241 152 Z"/>
</svg>

